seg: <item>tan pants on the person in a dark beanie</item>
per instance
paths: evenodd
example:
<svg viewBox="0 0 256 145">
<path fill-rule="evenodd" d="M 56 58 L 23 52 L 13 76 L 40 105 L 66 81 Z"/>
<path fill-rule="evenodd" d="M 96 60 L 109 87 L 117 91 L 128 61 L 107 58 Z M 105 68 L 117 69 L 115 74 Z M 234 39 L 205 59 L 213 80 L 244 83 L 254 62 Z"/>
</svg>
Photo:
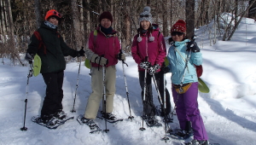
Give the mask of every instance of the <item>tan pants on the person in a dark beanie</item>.
<svg viewBox="0 0 256 145">
<path fill-rule="evenodd" d="M 116 68 L 115 66 L 105 67 L 105 85 L 106 85 L 106 112 L 113 112 L 113 96 L 115 93 L 115 79 Z M 96 119 L 99 110 L 100 102 L 103 98 L 103 72 L 102 67 L 91 67 L 91 89 L 87 105 L 85 108 L 84 118 Z M 102 107 L 104 109 L 105 107 Z"/>
</svg>

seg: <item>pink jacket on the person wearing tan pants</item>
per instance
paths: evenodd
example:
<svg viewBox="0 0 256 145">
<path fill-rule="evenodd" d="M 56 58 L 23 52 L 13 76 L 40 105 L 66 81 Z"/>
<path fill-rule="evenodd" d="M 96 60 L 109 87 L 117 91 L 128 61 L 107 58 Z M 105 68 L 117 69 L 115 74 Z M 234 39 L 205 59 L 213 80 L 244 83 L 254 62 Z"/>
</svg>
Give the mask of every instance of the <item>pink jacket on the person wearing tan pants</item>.
<svg viewBox="0 0 256 145">
<path fill-rule="evenodd" d="M 99 56 L 104 55 L 108 59 L 108 65 L 113 66 L 118 63 L 118 54 L 120 49 L 119 38 L 115 36 L 115 31 L 111 35 L 106 36 L 100 27 L 97 29 L 97 35 L 94 36 L 94 31 L 90 32 L 90 37 L 88 41 L 89 49 Z M 96 37 L 96 38 L 95 38 Z M 91 62 L 92 67 L 98 67 L 99 65 Z"/>
</svg>

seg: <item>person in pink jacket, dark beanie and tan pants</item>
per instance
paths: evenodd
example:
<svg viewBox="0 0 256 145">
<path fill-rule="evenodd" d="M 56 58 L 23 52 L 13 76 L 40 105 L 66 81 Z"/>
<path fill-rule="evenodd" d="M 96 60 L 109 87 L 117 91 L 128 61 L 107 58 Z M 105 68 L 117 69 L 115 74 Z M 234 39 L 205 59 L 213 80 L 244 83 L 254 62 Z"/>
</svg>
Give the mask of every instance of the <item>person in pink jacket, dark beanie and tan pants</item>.
<svg viewBox="0 0 256 145">
<path fill-rule="evenodd" d="M 92 52 L 87 54 L 91 62 L 91 89 L 92 93 L 88 98 L 84 117 L 81 122 L 93 126 L 103 96 L 103 83 L 106 88 L 106 109 L 102 107 L 102 117 L 115 120 L 113 115 L 113 96 L 115 94 L 116 68 L 119 61 L 125 61 L 125 55 L 120 53 L 119 38 L 112 28 L 113 16 L 109 12 L 103 12 L 99 17 L 100 25 L 96 32 L 90 32 L 88 49 Z M 86 49 L 85 49 L 86 51 Z M 103 67 L 105 76 L 103 78 Z M 105 81 L 104 81 L 105 80 Z M 104 81 L 104 82 L 103 82 Z M 106 113 L 105 113 L 106 110 Z"/>
</svg>

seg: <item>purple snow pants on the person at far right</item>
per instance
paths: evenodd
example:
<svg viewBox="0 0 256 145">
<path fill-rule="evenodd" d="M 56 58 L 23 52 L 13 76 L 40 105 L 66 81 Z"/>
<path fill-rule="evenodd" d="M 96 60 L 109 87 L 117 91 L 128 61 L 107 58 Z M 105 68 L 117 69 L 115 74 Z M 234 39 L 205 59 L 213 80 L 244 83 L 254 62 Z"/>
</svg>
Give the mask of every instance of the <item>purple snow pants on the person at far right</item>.
<svg viewBox="0 0 256 145">
<path fill-rule="evenodd" d="M 192 83 L 184 94 L 177 94 L 172 87 L 173 102 L 176 103 L 177 119 L 180 128 L 185 130 L 186 122 L 191 121 L 195 140 L 208 140 L 207 131 L 198 108 L 198 83 Z M 178 97 L 178 98 L 177 98 Z"/>
</svg>

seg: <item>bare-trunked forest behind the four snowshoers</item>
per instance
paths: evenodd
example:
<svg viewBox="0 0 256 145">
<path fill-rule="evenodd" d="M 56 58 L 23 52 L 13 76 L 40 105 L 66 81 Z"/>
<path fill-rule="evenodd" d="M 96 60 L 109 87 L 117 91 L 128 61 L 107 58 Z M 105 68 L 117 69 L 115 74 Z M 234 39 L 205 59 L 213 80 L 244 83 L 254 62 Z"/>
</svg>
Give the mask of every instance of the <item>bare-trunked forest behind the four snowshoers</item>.
<svg viewBox="0 0 256 145">
<path fill-rule="evenodd" d="M 0 0 L 0 6 L 0 58 L 9 58 L 21 66 L 26 65 L 22 54 L 26 53 L 30 37 L 49 9 L 62 14 L 64 20 L 58 32 L 73 49 L 85 47 L 90 32 L 99 25 L 98 14 L 111 12 L 113 29 L 126 55 L 131 55 L 132 38 L 145 6 L 151 8 L 154 23 L 165 37 L 179 19 L 186 20 L 189 38 L 196 28 L 213 20 L 214 29 L 205 29 L 210 44 L 229 41 L 241 17 L 256 19 L 256 0 Z M 222 17 L 225 13 L 230 13 L 229 20 Z M 66 60 L 75 61 L 70 57 Z"/>
</svg>

